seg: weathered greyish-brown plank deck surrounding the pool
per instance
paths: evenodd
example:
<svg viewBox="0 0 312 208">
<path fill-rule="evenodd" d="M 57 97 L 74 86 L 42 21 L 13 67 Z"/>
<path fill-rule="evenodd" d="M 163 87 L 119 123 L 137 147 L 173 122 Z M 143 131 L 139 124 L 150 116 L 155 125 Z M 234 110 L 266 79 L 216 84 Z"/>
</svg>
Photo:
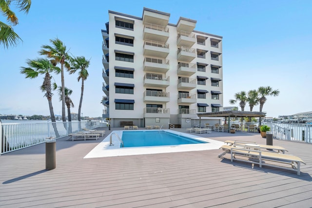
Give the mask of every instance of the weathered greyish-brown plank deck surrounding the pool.
<svg viewBox="0 0 312 208">
<path fill-rule="evenodd" d="M 259 133 L 196 135 L 266 144 Z M 312 207 L 311 144 L 273 140 L 307 163 L 297 175 L 232 163 L 222 150 L 83 159 L 101 140 L 57 140 L 54 170 L 45 170 L 45 144 L 0 155 L 0 207 Z"/>
</svg>

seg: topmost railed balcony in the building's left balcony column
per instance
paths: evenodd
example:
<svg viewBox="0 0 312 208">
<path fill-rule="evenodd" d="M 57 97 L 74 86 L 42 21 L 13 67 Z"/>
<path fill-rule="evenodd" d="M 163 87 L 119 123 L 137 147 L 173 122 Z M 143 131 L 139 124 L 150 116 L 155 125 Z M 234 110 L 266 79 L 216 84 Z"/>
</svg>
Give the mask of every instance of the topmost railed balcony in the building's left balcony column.
<svg viewBox="0 0 312 208">
<path fill-rule="evenodd" d="M 169 28 L 161 25 L 145 23 L 143 29 L 143 39 L 167 42 L 169 38 Z"/>
</svg>

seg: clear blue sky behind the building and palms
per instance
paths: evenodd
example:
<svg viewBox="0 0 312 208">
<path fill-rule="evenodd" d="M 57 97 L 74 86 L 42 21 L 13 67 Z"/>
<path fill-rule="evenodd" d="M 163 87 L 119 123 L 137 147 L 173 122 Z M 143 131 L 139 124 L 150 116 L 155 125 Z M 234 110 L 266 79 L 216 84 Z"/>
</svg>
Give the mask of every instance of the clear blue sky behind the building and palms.
<svg viewBox="0 0 312 208">
<path fill-rule="evenodd" d="M 58 37 L 74 56 L 91 58 L 81 112 L 101 116 L 101 29 L 108 10 L 142 17 L 143 7 L 170 13 L 169 22 L 174 24 L 179 17 L 195 19 L 195 30 L 223 37 L 223 106 L 231 106 L 229 100 L 237 92 L 271 86 L 280 95 L 268 97 L 263 108 L 267 116 L 312 111 L 311 0 L 33 0 L 28 15 L 12 7 L 20 20 L 14 30 L 23 42 L 0 48 L 0 113 L 49 115 L 39 89 L 43 77 L 25 79 L 20 67 L 28 58 L 39 57 L 40 47 L 49 39 Z M 0 20 L 5 22 L 2 16 Z M 71 111 L 78 113 L 81 82 L 77 75 L 65 74 L 65 86 L 74 91 Z M 59 76 L 54 78 L 60 84 Z M 55 114 L 61 114 L 58 96 L 55 92 Z"/>
</svg>

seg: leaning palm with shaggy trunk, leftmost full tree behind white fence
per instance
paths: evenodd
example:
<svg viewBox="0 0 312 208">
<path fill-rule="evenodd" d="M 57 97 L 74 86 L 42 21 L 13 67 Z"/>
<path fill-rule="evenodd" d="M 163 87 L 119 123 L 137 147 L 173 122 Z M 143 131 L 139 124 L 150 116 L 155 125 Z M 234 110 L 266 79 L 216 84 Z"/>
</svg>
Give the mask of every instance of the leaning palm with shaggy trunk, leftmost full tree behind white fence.
<svg viewBox="0 0 312 208">
<path fill-rule="evenodd" d="M 40 86 L 40 89 L 42 92 L 44 92 L 44 96 L 48 99 L 49 103 L 49 110 L 50 110 L 50 115 L 51 115 L 51 121 L 54 123 L 54 131 L 57 137 L 59 137 L 59 133 L 56 127 L 56 120 L 55 120 L 55 115 L 53 111 L 53 106 L 52 106 L 52 89 L 55 90 L 57 88 L 57 85 L 53 83 L 53 88 L 51 84 L 51 73 L 60 73 L 60 69 L 57 66 L 54 66 L 50 60 L 44 59 L 44 58 L 38 58 L 34 60 L 27 60 L 27 64 L 29 67 L 21 67 L 21 74 L 26 75 L 26 78 L 36 78 L 39 75 L 44 75 L 43 78 L 43 83 Z"/>
</svg>

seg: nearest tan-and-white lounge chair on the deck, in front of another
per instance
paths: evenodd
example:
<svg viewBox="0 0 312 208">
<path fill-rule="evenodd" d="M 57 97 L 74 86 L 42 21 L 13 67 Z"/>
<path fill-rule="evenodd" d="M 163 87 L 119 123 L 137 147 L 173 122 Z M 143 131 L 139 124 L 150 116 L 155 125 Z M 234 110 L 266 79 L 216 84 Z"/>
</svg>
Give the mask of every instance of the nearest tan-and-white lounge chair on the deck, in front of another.
<svg viewBox="0 0 312 208">
<path fill-rule="evenodd" d="M 295 170 L 297 175 L 300 175 L 300 163 L 306 164 L 302 159 L 297 156 L 289 154 L 279 154 L 276 152 L 259 151 L 257 149 L 250 149 L 246 145 L 240 145 L 239 147 L 223 145 L 219 149 L 231 153 L 231 162 L 233 160 L 243 161 L 253 164 L 258 164 L 260 168 L 262 166 L 277 167 L 285 170 Z M 224 154 L 219 154 L 219 157 Z M 238 157 L 236 157 L 238 156 Z M 247 158 L 247 159 L 243 159 Z M 269 162 L 273 162 L 270 164 Z M 280 166 L 279 164 L 289 164 L 290 167 Z"/>
</svg>

